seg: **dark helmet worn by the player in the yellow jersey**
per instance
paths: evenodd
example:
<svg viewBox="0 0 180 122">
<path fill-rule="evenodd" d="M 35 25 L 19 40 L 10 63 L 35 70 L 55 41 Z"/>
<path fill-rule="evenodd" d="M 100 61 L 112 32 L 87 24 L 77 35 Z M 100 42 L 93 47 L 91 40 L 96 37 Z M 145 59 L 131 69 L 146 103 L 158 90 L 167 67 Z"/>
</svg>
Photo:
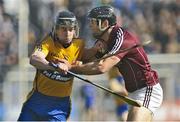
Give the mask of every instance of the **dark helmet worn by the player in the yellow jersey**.
<svg viewBox="0 0 180 122">
<path fill-rule="evenodd" d="M 74 27 L 76 30 L 76 37 L 79 35 L 79 26 L 76 16 L 67 10 L 58 12 L 55 18 L 55 29 L 58 27 Z"/>
</svg>

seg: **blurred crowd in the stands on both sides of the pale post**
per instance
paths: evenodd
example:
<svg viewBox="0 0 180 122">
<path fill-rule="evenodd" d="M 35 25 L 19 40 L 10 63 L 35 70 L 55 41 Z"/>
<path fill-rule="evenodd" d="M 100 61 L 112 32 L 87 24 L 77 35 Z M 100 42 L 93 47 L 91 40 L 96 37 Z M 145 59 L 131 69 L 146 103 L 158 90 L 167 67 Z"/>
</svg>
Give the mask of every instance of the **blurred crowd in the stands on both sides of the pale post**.
<svg viewBox="0 0 180 122">
<path fill-rule="evenodd" d="M 5 3 L 0 0 L 0 83 L 10 68 L 18 64 L 18 10 L 8 13 Z M 27 0 L 27 3 L 29 55 L 36 42 L 51 31 L 59 10 L 75 13 L 80 37 L 91 46 L 93 38 L 88 29 L 87 13 L 99 5 L 113 6 L 119 25 L 131 30 L 142 42 L 151 40 L 145 46 L 147 53 L 180 53 L 180 0 Z"/>
</svg>

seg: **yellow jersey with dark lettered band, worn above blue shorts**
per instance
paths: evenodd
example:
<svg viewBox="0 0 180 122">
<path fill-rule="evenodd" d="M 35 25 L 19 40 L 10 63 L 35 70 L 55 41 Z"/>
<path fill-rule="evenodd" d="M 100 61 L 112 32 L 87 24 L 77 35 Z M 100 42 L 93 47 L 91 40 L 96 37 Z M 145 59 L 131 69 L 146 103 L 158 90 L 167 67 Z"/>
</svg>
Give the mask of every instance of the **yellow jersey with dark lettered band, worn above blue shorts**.
<svg viewBox="0 0 180 122">
<path fill-rule="evenodd" d="M 34 51 L 38 50 L 43 52 L 48 61 L 66 59 L 69 63 L 72 63 L 73 61 L 81 59 L 83 49 L 84 41 L 82 39 L 73 39 L 71 45 L 64 48 L 48 35 L 35 47 Z M 70 96 L 72 85 L 73 77 L 71 75 L 65 75 L 50 70 L 37 70 L 33 83 L 33 90 L 37 90 L 47 96 L 66 97 Z"/>
</svg>

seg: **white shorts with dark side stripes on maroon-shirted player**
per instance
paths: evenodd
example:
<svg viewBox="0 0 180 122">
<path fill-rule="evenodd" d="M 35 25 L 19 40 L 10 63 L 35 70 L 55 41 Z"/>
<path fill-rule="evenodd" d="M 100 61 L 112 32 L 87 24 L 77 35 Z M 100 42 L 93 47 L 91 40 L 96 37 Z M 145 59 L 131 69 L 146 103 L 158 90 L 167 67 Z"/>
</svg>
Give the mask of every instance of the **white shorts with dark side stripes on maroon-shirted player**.
<svg viewBox="0 0 180 122">
<path fill-rule="evenodd" d="M 141 103 L 154 114 L 156 109 L 158 109 L 162 104 L 163 90 L 158 83 L 154 86 L 147 86 L 129 93 L 128 97 Z"/>
</svg>

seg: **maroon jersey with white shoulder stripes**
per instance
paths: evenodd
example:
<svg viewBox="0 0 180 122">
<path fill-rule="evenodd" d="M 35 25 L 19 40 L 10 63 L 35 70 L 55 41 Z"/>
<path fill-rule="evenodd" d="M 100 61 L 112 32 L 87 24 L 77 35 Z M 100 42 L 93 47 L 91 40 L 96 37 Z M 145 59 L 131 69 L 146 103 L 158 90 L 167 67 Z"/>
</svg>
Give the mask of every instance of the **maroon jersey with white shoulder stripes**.
<svg viewBox="0 0 180 122">
<path fill-rule="evenodd" d="M 114 54 L 139 44 L 139 40 L 127 30 L 115 26 L 109 38 L 108 50 Z M 151 69 L 147 55 L 142 47 L 137 47 L 116 55 L 121 61 L 117 67 L 124 77 L 126 89 L 133 92 L 145 86 L 152 86 L 159 82 L 157 73 Z"/>
</svg>

